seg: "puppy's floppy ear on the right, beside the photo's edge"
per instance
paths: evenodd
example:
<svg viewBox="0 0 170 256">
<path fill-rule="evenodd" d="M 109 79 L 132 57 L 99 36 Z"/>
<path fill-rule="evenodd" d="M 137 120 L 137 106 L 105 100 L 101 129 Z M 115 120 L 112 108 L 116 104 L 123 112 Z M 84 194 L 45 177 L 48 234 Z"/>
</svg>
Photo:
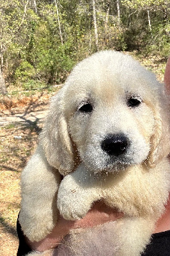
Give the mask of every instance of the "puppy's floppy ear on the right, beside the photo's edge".
<svg viewBox="0 0 170 256">
<path fill-rule="evenodd" d="M 163 86 L 163 85 L 162 85 Z M 155 131 L 151 137 L 151 150 L 148 156 L 148 163 L 154 167 L 161 159 L 166 157 L 170 152 L 170 136 L 169 136 L 169 104 L 167 97 L 164 95 L 160 97 L 160 106 L 155 106 Z"/>
</svg>

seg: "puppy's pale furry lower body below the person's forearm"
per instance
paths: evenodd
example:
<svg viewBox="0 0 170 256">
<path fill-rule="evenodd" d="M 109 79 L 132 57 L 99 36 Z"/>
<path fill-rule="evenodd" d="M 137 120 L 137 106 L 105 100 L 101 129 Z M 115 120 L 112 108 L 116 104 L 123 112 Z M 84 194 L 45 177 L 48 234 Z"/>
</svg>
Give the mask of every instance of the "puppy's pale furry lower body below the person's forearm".
<svg viewBox="0 0 170 256">
<path fill-rule="evenodd" d="M 150 241 L 154 221 L 122 218 L 93 228 L 78 228 L 54 249 L 55 256 L 139 256 Z"/>
</svg>

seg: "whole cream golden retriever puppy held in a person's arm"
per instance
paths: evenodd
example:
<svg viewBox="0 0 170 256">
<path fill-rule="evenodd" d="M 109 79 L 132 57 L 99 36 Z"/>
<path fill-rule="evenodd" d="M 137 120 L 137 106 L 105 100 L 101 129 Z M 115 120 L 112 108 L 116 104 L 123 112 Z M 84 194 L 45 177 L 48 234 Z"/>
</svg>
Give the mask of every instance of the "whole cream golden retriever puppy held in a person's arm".
<svg viewBox="0 0 170 256">
<path fill-rule="evenodd" d="M 76 220 L 97 200 L 125 216 L 73 232 L 66 246 L 42 255 L 143 252 L 170 188 L 167 106 L 164 86 L 120 52 L 98 52 L 73 69 L 52 99 L 38 148 L 22 172 L 22 230 L 40 241 L 58 211 Z M 90 249 L 94 244 L 97 250 Z"/>
</svg>

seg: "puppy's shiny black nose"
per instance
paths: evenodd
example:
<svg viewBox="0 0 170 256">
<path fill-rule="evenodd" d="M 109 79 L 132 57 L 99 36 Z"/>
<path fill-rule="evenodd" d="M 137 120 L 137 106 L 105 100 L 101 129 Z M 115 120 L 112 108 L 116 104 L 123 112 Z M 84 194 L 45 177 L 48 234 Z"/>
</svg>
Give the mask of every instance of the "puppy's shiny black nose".
<svg viewBox="0 0 170 256">
<path fill-rule="evenodd" d="M 111 134 L 102 141 L 101 147 L 109 156 L 120 156 L 125 153 L 128 144 L 128 139 L 125 135 Z"/>
</svg>

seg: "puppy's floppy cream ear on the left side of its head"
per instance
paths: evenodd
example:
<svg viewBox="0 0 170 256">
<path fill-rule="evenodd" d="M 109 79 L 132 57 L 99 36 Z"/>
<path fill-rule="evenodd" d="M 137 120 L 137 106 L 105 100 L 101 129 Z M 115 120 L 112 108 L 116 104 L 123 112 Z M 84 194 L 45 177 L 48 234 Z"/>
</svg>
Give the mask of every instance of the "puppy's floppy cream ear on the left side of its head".
<svg viewBox="0 0 170 256">
<path fill-rule="evenodd" d="M 52 98 L 49 113 L 40 135 L 47 161 L 62 175 L 72 172 L 74 154 L 65 115 L 64 90 Z M 68 102 L 67 102 L 68 104 Z"/>
</svg>

